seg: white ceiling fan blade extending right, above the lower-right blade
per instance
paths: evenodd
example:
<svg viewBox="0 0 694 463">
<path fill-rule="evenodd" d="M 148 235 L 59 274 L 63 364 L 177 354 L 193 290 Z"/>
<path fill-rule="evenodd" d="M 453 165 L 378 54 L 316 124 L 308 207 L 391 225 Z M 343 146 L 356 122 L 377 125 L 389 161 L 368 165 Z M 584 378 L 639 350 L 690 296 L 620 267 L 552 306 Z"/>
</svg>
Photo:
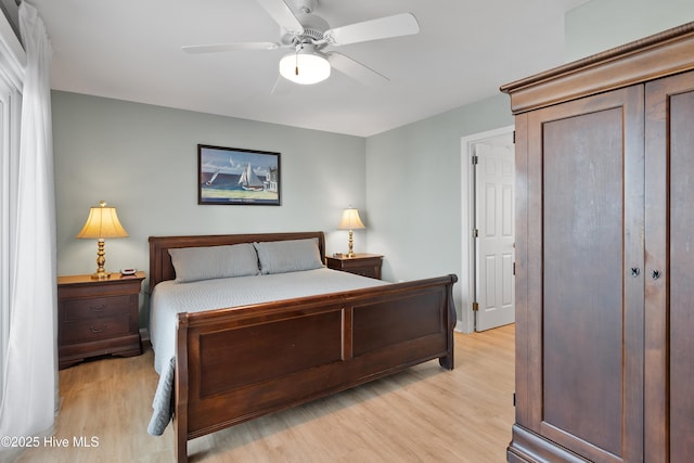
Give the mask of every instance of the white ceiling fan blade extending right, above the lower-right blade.
<svg viewBox="0 0 694 463">
<path fill-rule="evenodd" d="M 412 13 L 400 13 L 377 20 L 364 21 L 347 26 L 335 27 L 323 34 L 327 43 L 344 46 L 369 40 L 409 36 L 420 31 L 420 23 Z"/>
</svg>

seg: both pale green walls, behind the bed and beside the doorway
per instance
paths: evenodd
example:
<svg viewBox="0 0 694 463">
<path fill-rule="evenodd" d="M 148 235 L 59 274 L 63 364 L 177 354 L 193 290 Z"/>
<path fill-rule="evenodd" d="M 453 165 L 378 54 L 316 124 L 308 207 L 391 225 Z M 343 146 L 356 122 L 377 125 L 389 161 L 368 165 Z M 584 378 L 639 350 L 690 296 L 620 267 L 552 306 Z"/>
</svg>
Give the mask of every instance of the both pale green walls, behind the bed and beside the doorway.
<svg viewBox="0 0 694 463">
<path fill-rule="evenodd" d="M 324 230 L 345 250 L 354 205 L 355 249 L 384 254 L 386 279 L 460 274 L 460 139 L 512 124 L 504 95 L 369 139 L 62 91 L 52 105 L 59 274 L 94 271 L 97 243 L 74 236 L 101 200 L 130 234 L 107 240 L 110 271 L 146 271 L 150 235 Z M 280 152 L 282 206 L 198 205 L 197 143 Z"/>
</svg>

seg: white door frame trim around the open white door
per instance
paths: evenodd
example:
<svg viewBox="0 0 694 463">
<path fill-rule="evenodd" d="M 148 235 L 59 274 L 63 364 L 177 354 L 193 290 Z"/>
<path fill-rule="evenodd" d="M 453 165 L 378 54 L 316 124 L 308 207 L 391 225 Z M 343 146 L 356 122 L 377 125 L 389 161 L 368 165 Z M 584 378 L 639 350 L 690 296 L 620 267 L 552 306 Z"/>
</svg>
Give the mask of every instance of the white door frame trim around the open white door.
<svg viewBox="0 0 694 463">
<path fill-rule="evenodd" d="M 461 275 L 459 280 L 462 304 L 461 316 L 455 326 L 457 331 L 473 333 L 475 331 L 475 313 L 473 303 L 475 294 L 475 261 L 472 259 L 475 249 L 473 224 L 475 223 L 475 184 L 472 162 L 473 146 L 476 143 L 496 137 L 513 133 L 515 126 L 505 126 L 499 129 L 487 130 L 461 138 Z"/>
</svg>

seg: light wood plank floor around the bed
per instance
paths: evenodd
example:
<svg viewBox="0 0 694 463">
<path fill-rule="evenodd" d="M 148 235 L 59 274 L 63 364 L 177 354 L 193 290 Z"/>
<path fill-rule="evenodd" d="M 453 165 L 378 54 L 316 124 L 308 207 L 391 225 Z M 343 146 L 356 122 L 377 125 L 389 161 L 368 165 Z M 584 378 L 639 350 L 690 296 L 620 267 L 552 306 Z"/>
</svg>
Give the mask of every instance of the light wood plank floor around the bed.
<svg viewBox="0 0 694 463">
<path fill-rule="evenodd" d="M 171 462 L 172 426 L 146 433 L 158 376 L 140 357 L 60 372 L 55 434 L 20 462 Z M 514 326 L 455 333 L 455 369 L 438 361 L 189 442 L 191 462 L 505 461 L 514 421 Z M 77 448 L 75 438 L 98 447 Z M 41 440 L 42 441 L 42 440 Z"/>
</svg>

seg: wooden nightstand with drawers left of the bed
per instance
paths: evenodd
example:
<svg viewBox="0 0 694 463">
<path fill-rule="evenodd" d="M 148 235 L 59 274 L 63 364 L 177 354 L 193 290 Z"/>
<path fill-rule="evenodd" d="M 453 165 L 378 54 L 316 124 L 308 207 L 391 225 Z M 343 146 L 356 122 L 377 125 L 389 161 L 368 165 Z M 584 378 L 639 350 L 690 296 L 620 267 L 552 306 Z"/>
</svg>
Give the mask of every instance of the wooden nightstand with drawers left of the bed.
<svg viewBox="0 0 694 463">
<path fill-rule="evenodd" d="M 57 278 L 59 368 L 89 357 L 142 353 L 139 294 L 144 272 L 107 280 L 91 275 Z"/>
</svg>

